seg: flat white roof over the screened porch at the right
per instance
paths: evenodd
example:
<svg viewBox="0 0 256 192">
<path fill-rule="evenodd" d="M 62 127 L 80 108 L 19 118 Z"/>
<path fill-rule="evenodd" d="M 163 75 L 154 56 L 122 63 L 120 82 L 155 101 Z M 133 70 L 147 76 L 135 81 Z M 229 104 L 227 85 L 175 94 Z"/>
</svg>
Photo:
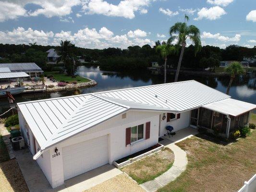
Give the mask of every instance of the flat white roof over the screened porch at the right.
<svg viewBox="0 0 256 192">
<path fill-rule="evenodd" d="M 203 108 L 214 110 L 226 115 L 238 116 L 247 111 L 255 109 L 256 105 L 228 98 L 215 103 L 204 105 Z"/>
</svg>

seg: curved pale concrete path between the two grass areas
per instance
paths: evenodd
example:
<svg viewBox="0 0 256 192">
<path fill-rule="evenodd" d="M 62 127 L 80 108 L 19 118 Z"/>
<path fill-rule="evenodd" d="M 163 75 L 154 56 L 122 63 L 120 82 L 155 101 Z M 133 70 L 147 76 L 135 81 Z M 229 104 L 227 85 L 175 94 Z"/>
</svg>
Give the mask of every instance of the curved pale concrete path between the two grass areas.
<svg viewBox="0 0 256 192">
<path fill-rule="evenodd" d="M 150 180 L 143 184 L 140 184 L 140 186 L 144 190 L 146 190 L 146 192 L 157 191 L 159 188 L 167 185 L 169 182 L 179 177 L 182 174 L 182 172 L 186 169 L 186 166 L 187 166 L 186 152 L 183 151 L 180 147 L 178 147 L 174 143 L 167 144 L 165 145 L 165 147 L 170 148 L 174 153 L 173 165 L 165 173 L 155 178 L 154 180 Z"/>
</svg>

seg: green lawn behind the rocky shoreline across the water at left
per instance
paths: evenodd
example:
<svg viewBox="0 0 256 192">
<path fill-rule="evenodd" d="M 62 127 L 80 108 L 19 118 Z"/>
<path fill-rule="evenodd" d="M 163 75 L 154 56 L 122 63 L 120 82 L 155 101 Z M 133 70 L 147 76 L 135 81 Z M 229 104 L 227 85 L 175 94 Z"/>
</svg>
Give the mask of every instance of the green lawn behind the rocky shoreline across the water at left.
<svg viewBox="0 0 256 192">
<path fill-rule="evenodd" d="M 65 81 L 65 82 L 77 81 L 77 83 L 85 83 L 90 81 L 85 77 L 76 76 L 75 78 L 73 78 L 71 76 L 68 76 L 67 74 L 59 73 L 59 72 L 44 72 L 44 74 L 46 76 L 49 74 L 53 75 L 54 79 L 56 79 L 57 81 Z"/>
</svg>

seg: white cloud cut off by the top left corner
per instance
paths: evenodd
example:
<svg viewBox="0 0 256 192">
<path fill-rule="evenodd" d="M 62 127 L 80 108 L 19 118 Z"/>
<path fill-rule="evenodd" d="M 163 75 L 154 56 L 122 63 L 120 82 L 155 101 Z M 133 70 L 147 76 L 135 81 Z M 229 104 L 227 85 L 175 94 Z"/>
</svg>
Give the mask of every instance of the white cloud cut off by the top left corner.
<svg viewBox="0 0 256 192">
<path fill-rule="evenodd" d="M 19 16 L 26 16 L 26 10 L 21 5 L 1 1 L 0 22 L 4 22 L 8 19 L 17 19 Z"/>
</svg>

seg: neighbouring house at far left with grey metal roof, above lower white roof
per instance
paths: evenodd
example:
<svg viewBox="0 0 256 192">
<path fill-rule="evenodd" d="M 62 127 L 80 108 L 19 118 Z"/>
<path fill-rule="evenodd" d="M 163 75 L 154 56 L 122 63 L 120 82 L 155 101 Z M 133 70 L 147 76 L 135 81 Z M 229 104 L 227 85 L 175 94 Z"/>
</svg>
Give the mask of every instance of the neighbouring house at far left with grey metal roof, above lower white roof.
<svg viewBox="0 0 256 192">
<path fill-rule="evenodd" d="M 39 77 L 44 72 L 36 63 L 0 63 L 0 68 L 9 68 L 10 72 L 25 72 L 29 77 Z"/>
</svg>

